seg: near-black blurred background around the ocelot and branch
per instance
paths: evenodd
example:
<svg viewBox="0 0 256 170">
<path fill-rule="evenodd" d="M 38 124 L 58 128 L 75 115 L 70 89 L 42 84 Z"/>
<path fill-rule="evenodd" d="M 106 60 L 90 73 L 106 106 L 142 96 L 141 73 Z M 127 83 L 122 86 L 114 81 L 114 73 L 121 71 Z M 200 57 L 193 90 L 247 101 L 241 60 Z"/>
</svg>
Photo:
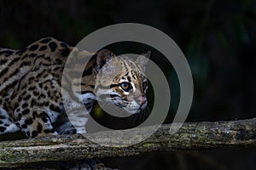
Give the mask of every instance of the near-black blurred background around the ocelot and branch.
<svg viewBox="0 0 256 170">
<path fill-rule="evenodd" d="M 182 49 L 195 85 L 187 122 L 255 117 L 253 0 L 2 0 L 0 47 L 24 48 L 42 37 L 55 37 L 74 46 L 92 31 L 123 22 L 154 26 Z M 175 73 L 168 68 L 165 65 L 163 70 L 172 80 Z M 172 112 L 177 107 L 178 85 L 171 90 Z M 254 169 L 255 151 L 233 148 L 155 153 L 113 158 L 109 163 L 120 169 Z"/>
</svg>

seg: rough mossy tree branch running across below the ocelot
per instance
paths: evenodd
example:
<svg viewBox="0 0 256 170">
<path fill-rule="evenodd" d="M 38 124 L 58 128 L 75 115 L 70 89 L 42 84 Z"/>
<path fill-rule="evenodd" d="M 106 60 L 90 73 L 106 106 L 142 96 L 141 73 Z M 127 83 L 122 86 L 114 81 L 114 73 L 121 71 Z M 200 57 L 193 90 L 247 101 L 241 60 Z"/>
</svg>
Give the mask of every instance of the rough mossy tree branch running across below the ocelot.
<svg viewBox="0 0 256 170">
<path fill-rule="evenodd" d="M 174 124 L 179 126 L 178 123 Z M 108 143 L 109 135 L 116 135 L 110 147 L 95 144 L 83 135 L 56 135 L 36 139 L 0 142 L 0 167 L 15 167 L 38 161 L 67 161 L 108 156 L 134 156 L 145 152 L 173 150 L 206 150 L 223 147 L 252 147 L 256 145 L 256 118 L 234 122 L 185 122 L 177 133 L 170 134 L 170 124 L 162 125 L 151 137 L 127 147 L 125 131 L 94 133 L 101 142 Z M 152 127 L 136 128 L 140 135 Z M 85 135 L 86 136 L 86 135 Z M 127 140 L 126 140 L 127 139 Z M 132 141 L 131 141 L 132 142 Z M 109 143 L 108 143 L 109 144 Z"/>
</svg>

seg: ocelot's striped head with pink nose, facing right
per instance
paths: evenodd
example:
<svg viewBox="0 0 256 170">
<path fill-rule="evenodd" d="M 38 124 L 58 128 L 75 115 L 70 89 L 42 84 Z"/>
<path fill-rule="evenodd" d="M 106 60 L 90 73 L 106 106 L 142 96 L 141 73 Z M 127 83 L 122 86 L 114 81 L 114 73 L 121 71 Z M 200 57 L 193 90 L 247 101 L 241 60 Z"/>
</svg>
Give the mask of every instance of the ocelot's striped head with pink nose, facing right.
<svg viewBox="0 0 256 170">
<path fill-rule="evenodd" d="M 129 114 L 136 114 L 148 105 L 148 80 L 145 68 L 150 52 L 131 59 L 102 50 L 96 56 L 95 92 L 99 100 L 111 102 Z"/>
</svg>

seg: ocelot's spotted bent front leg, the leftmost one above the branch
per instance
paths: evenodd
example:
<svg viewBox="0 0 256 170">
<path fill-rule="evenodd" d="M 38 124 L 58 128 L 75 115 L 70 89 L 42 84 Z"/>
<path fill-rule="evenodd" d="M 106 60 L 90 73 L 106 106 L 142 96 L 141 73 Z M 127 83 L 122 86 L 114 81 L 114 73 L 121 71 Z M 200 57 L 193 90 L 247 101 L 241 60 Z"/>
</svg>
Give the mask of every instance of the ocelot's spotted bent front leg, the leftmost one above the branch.
<svg viewBox="0 0 256 170">
<path fill-rule="evenodd" d="M 52 123 L 62 113 L 61 108 L 47 99 L 38 101 L 37 96 L 30 94 L 17 100 L 19 103 L 10 100 L 5 108 L 9 109 L 13 121 L 28 138 L 55 133 Z"/>
</svg>

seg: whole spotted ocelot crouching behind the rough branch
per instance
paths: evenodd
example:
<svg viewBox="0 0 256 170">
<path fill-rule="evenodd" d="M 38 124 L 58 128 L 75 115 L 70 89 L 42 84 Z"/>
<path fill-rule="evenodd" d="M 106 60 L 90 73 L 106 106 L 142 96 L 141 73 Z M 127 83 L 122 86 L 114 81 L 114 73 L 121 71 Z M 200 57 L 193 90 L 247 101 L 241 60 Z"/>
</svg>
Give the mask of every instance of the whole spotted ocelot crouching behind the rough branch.
<svg viewBox="0 0 256 170">
<path fill-rule="evenodd" d="M 145 57 L 133 61 L 102 50 L 84 69 L 79 57 L 88 56 L 91 54 L 51 37 L 20 50 L 1 48 L 0 134 L 21 130 L 33 138 L 48 133 L 86 133 L 85 123 L 96 100 L 112 102 L 130 114 L 146 107 Z M 148 58 L 149 53 L 142 56 Z M 63 76 L 65 65 L 70 74 Z M 81 69 L 82 78 L 75 77 Z M 113 74 L 116 76 L 110 80 Z M 65 80 L 62 87 L 61 80 Z M 63 99 L 69 104 L 65 108 Z M 86 113 L 80 111 L 84 105 Z"/>
</svg>

